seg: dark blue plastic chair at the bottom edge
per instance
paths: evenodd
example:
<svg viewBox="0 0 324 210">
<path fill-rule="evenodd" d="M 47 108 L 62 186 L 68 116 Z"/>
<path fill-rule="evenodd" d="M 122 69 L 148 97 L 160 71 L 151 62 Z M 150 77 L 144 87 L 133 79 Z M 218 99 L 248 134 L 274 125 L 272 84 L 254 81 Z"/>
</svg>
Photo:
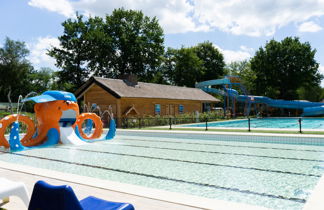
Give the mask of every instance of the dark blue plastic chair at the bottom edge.
<svg viewBox="0 0 324 210">
<path fill-rule="evenodd" d="M 36 182 L 28 210 L 134 210 L 130 203 L 118 203 L 89 196 L 78 200 L 68 185 L 53 186 Z"/>
</svg>

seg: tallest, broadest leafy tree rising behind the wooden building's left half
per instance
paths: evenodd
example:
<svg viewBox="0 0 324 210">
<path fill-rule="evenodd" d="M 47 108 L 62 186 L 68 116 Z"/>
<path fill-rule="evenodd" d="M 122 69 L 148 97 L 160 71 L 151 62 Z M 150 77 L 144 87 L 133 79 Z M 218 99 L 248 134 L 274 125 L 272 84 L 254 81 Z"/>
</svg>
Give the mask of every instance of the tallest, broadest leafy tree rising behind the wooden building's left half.
<svg viewBox="0 0 324 210">
<path fill-rule="evenodd" d="M 80 86 L 89 75 L 118 78 L 135 74 L 150 81 L 161 64 L 163 30 L 157 19 L 140 11 L 116 9 L 104 19 L 89 17 L 63 22 L 60 47 L 49 55 L 56 59 L 60 83 Z"/>
</svg>

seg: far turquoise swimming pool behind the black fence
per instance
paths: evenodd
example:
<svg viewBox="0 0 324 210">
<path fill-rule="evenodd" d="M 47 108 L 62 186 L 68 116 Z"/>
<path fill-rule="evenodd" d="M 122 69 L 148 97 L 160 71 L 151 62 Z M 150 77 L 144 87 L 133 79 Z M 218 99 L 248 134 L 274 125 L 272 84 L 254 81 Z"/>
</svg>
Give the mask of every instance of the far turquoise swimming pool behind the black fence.
<svg viewBox="0 0 324 210">
<path fill-rule="evenodd" d="M 302 129 L 324 130 L 324 118 L 301 118 Z M 251 118 L 251 128 L 299 129 L 299 118 Z M 206 127 L 206 123 L 182 125 L 182 127 Z M 248 128 L 248 120 L 209 122 L 208 127 Z"/>
</svg>

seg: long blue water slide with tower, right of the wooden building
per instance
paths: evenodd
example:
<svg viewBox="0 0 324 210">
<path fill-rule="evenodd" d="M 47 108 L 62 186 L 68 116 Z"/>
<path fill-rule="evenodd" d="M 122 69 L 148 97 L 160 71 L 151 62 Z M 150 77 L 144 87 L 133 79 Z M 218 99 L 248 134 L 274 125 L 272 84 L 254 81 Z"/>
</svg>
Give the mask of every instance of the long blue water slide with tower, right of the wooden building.
<svg viewBox="0 0 324 210">
<path fill-rule="evenodd" d="M 217 86 L 217 88 L 215 88 Z M 241 94 L 233 87 L 238 87 Z M 237 76 L 225 76 L 223 79 L 208 80 L 196 84 L 196 88 L 200 88 L 205 92 L 214 93 L 224 97 L 224 112 L 229 108 L 232 115 L 236 115 L 236 102 L 244 103 L 244 115 L 249 116 L 251 106 L 262 104 L 268 107 L 285 108 L 285 109 L 301 109 L 302 116 L 316 116 L 324 114 L 324 103 L 308 102 L 308 101 L 289 101 L 272 99 L 266 96 L 254 96 L 247 93 L 246 88 L 242 85 L 240 78 Z"/>
</svg>

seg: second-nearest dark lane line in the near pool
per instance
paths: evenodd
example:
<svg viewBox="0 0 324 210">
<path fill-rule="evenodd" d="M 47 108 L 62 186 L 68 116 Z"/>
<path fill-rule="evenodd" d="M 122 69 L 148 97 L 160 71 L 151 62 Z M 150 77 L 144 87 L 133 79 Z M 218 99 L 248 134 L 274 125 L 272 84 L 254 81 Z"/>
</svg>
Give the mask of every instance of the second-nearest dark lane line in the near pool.
<svg viewBox="0 0 324 210">
<path fill-rule="evenodd" d="M 207 165 L 207 166 L 218 166 L 218 167 L 245 169 L 245 170 L 255 170 L 255 171 L 263 171 L 263 172 L 269 172 L 269 173 L 282 173 L 282 174 L 289 174 L 289 175 L 296 175 L 296 176 L 321 177 L 320 175 L 316 175 L 316 174 L 304 174 L 304 173 L 297 173 L 297 172 L 291 172 L 291 171 L 280 171 L 280 170 L 272 170 L 272 169 L 262 169 L 262 168 L 253 168 L 253 167 L 225 165 L 225 164 L 218 164 L 218 163 L 206 163 L 206 162 L 198 162 L 198 161 L 190 161 L 190 160 L 161 158 L 161 157 L 153 157 L 153 156 L 145 156 L 145 155 L 133 155 L 133 154 L 126 154 L 126 153 L 116 153 L 116 152 L 107 152 L 107 151 L 98 151 L 98 150 L 79 149 L 79 148 L 74 148 L 74 147 L 57 147 L 57 148 L 58 149 L 68 149 L 68 150 L 73 149 L 73 150 L 77 150 L 77 151 L 93 152 L 93 153 L 101 153 L 101 154 L 147 158 L 147 159 L 155 159 L 155 160 L 166 160 L 166 161 L 174 161 L 174 162 L 182 162 L 182 163 L 190 163 L 190 164 L 199 164 L 199 165 Z"/>
</svg>

